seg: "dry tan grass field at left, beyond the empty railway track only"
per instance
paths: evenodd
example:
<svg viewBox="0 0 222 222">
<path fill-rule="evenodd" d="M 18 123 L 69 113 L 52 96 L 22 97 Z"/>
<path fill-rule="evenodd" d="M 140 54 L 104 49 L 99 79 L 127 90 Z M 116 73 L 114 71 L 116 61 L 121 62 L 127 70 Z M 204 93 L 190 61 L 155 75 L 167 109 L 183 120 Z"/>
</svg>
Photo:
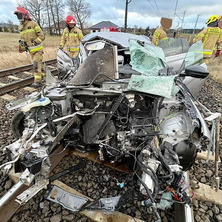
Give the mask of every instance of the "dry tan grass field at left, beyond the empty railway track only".
<svg viewBox="0 0 222 222">
<path fill-rule="evenodd" d="M 31 64 L 29 53 L 18 52 L 19 34 L 0 32 L 0 70 Z M 55 59 L 60 37 L 46 36 L 43 42 L 43 60 Z"/>
</svg>

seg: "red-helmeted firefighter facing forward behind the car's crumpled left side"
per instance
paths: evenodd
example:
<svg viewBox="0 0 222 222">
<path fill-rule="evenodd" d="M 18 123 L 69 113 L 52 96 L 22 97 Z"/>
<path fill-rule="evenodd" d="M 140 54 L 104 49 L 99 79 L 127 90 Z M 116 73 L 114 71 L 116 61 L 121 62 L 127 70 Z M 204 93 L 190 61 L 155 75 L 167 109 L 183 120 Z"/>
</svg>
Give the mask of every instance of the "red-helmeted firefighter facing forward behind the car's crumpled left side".
<svg viewBox="0 0 222 222">
<path fill-rule="evenodd" d="M 83 34 L 80 29 L 76 27 L 76 20 L 72 15 L 66 17 L 66 28 L 62 33 L 60 42 L 60 49 L 66 47 L 71 58 L 76 58 L 79 54 L 79 44 L 83 39 Z"/>
</svg>

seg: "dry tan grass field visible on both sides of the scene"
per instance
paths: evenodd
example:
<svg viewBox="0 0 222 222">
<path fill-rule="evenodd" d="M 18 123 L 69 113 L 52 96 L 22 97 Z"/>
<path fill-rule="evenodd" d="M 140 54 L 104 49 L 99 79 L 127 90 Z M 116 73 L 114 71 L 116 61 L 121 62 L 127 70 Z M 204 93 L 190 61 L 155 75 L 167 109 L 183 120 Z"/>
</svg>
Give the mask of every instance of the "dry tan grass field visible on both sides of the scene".
<svg viewBox="0 0 222 222">
<path fill-rule="evenodd" d="M 0 32 L 0 70 L 31 64 L 29 53 L 18 52 L 19 34 Z M 46 36 L 43 42 L 44 60 L 55 59 L 59 48 L 60 37 Z M 222 84 L 222 54 L 213 58 L 208 65 L 211 77 Z"/>
</svg>

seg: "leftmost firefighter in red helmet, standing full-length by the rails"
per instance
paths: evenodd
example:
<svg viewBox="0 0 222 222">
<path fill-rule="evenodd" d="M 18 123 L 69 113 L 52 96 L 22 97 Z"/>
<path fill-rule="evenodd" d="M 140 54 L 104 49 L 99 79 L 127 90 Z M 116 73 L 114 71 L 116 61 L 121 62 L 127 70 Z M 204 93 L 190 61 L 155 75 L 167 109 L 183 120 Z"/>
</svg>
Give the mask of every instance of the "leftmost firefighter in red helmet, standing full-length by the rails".
<svg viewBox="0 0 222 222">
<path fill-rule="evenodd" d="M 42 77 L 45 73 L 42 72 L 43 47 L 42 41 L 45 39 L 42 29 L 37 23 L 31 20 L 28 11 L 25 8 L 17 7 L 15 12 L 20 21 L 19 31 L 19 52 L 29 52 L 33 61 L 34 69 L 34 87 L 41 85 Z"/>
</svg>

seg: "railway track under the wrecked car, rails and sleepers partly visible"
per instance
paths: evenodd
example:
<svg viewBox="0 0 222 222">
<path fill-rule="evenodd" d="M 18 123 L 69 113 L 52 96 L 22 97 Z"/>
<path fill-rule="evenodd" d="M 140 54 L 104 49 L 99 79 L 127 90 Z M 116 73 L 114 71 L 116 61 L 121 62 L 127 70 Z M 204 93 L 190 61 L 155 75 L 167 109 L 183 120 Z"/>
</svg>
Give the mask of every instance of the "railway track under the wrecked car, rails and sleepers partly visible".
<svg viewBox="0 0 222 222">
<path fill-rule="evenodd" d="M 91 154 L 84 154 L 84 153 L 80 153 L 80 152 L 76 152 L 76 151 L 71 151 L 69 149 L 65 150 L 65 152 L 62 151 L 63 150 L 63 146 L 60 146 L 56 152 L 52 155 L 52 158 L 50 159 L 52 166 L 51 166 L 51 172 L 53 170 L 53 168 L 56 167 L 56 165 L 63 164 L 63 158 L 67 155 L 69 156 L 78 156 L 78 158 L 87 158 L 88 160 L 91 160 L 92 162 L 94 162 L 93 164 L 100 163 L 98 161 L 98 158 L 95 158 L 95 153 L 91 153 Z M 105 162 L 104 166 L 106 167 L 111 167 L 112 169 L 118 170 L 119 172 L 124 172 L 124 173 L 129 173 L 129 169 L 126 165 L 122 165 L 119 166 L 117 165 L 112 165 L 109 162 Z M 60 178 L 61 176 L 64 176 L 65 174 L 70 174 L 68 176 L 71 176 L 73 174 L 71 173 L 67 173 L 68 170 L 64 170 L 62 171 L 63 173 L 57 173 L 56 175 L 52 176 L 51 178 Z M 65 172 L 65 173 L 64 173 Z M 77 172 L 78 174 L 78 172 Z M 66 180 L 66 179 L 64 179 Z M 53 179 L 54 181 L 54 179 Z M 75 189 L 71 188 L 71 186 L 67 186 L 66 183 L 62 183 L 60 182 L 60 180 L 56 180 L 55 183 L 53 181 L 50 181 L 51 186 L 56 185 L 59 186 L 60 188 L 62 188 L 64 191 L 67 192 L 77 192 L 75 193 L 75 195 L 78 196 L 82 196 L 85 198 L 88 198 L 90 201 L 93 201 L 93 199 L 85 196 L 82 193 L 78 193 L 78 191 L 76 191 Z M 32 185 L 32 184 L 31 184 Z M 30 186 L 31 186 L 30 185 Z M 62 185 L 62 186 L 61 186 Z M 10 221 L 10 218 L 22 207 L 18 202 L 17 202 L 17 196 L 19 194 L 21 194 L 23 191 L 25 191 L 26 189 L 28 189 L 29 187 L 22 184 L 21 182 L 17 183 L 17 186 L 12 189 L 11 188 L 11 195 L 9 197 L 5 197 L 7 198 L 7 203 L 5 205 L 2 205 L 0 203 L 0 214 L 1 216 L 1 221 L 3 222 L 7 222 Z M 190 208 L 189 206 L 183 206 L 182 204 L 175 204 L 175 208 L 174 208 L 174 217 L 175 217 L 175 222 L 194 222 L 193 219 L 193 210 L 192 208 Z M 120 212 L 113 212 L 111 213 L 111 215 L 113 215 L 113 219 L 108 220 L 108 216 L 105 216 L 103 214 L 100 215 L 100 219 L 98 220 L 96 215 L 97 215 L 97 211 L 94 211 L 94 213 L 92 213 L 93 211 L 90 211 L 91 213 L 89 213 L 89 211 L 81 211 L 80 214 L 87 216 L 89 219 L 91 219 L 92 221 L 110 221 L 110 222 L 119 222 L 119 221 L 123 221 L 123 222 L 133 222 L 133 221 L 138 221 L 138 222 L 145 222 L 144 220 L 140 220 L 137 218 L 134 218 L 132 216 L 129 216 L 127 214 L 123 214 Z M 115 219 L 115 215 L 118 215 L 118 218 Z M 94 220 L 95 219 L 95 220 Z M 90 220 L 90 221 L 91 221 Z M 87 220 L 88 221 L 88 220 Z M 152 220 L 153 221 L 153 220 Z"/>
</svg>

